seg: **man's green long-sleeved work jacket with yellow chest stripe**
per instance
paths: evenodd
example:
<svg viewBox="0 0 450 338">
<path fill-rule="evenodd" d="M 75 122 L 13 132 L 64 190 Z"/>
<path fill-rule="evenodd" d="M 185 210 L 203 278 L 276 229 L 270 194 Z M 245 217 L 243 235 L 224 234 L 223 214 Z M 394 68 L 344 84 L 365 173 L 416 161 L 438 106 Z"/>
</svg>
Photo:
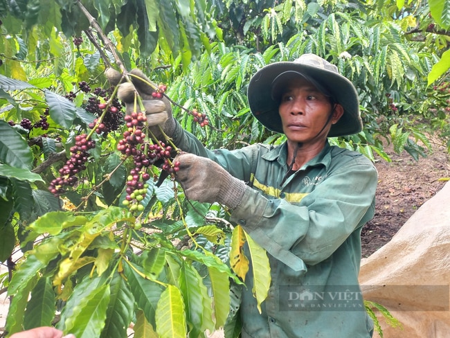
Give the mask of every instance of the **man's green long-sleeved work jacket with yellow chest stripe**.
<svg viewBox="0 0 450 338">
<path fill-rule="evenodd" d="M 246 276 L 242 337 L 371 337 L 358 283 L 361 228 L 375 213 L 377 171 L 369 159 L 327 143 L 280 186 L 286 143 L 208 150 L 181 127 L 174 143 L 253 188 L 231 221 L 267 250 L 271 287 L 260 314 Z"/>
</svg>

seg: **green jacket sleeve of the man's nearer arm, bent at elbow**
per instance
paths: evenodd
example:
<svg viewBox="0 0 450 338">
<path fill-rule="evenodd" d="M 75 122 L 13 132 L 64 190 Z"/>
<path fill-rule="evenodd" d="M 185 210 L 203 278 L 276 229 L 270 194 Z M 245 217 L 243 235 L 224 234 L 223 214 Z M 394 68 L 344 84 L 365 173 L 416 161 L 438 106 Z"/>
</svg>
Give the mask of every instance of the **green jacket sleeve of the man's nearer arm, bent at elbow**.
<svg viewBox="0 0 450 338">
<path fill-rule="evenodd" d="M 273 257 L 296 271 L 325 260 L 375 209 L 377 171 L 365 157 L 336 169 L 300 204 L 246 188 L 231 220 Z"/>
</svg>

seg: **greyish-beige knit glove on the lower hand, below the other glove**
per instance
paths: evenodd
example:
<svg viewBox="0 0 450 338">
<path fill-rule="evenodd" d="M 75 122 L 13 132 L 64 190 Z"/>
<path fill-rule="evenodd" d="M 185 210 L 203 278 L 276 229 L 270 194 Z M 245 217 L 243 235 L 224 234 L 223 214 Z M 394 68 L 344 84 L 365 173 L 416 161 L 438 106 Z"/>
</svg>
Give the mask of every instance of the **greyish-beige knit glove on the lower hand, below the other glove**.
<svg viewBox="0 0 450 338">
<path fill-rule="evenodd" d="M 178 154 L 175 179 L 181 184 L 188 199 L 198 202 L 223 204 L 234 209 L 242 200 L 246 185 L 230 175 L 224 168 L 206 157 Z"/>
</svg>

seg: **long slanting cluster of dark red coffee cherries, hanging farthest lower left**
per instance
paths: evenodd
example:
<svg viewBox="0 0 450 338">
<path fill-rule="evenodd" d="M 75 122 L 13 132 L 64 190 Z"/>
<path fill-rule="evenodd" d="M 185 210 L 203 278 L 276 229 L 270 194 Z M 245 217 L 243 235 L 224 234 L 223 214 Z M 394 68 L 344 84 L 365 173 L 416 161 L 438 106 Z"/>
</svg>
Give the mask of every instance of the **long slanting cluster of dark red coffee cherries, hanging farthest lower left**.
<svg viewBox="0 0 450 338">
<path fill-rule="evenodd" d="M 86 169 L 85 163 L 89 159 L 89 150 L 95 148 L 96 141 L 87 139 L 87 134 L 75 136 L 75 145 L 71 147 L 71 157 L 60 169 L 60 177 L 51 181 L 48 190 L 55 196 L 65 192 L 64 186 L 74 186 L 79 172 Z"/>
</svg>

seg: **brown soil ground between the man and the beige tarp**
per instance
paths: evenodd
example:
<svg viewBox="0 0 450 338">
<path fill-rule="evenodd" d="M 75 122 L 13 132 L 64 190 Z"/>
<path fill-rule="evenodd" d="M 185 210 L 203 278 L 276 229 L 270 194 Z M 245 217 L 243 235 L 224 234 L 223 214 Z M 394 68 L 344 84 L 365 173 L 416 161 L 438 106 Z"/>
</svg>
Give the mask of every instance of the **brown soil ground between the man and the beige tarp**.
<svg viewBox="0 0 450 338">
<path fill-rule="evenodd" d="M 361 233 L 363 258 L 386 244 L 417 209 L 444 186 L 450 177 L 447 149 L 433 145 L 427 157 L 415 161 L 407 152 L 397 154 L 392 146 L 385 152 L 392 159 L 376 161 L 378 188 L 374 218 Z"/>
</svg>

